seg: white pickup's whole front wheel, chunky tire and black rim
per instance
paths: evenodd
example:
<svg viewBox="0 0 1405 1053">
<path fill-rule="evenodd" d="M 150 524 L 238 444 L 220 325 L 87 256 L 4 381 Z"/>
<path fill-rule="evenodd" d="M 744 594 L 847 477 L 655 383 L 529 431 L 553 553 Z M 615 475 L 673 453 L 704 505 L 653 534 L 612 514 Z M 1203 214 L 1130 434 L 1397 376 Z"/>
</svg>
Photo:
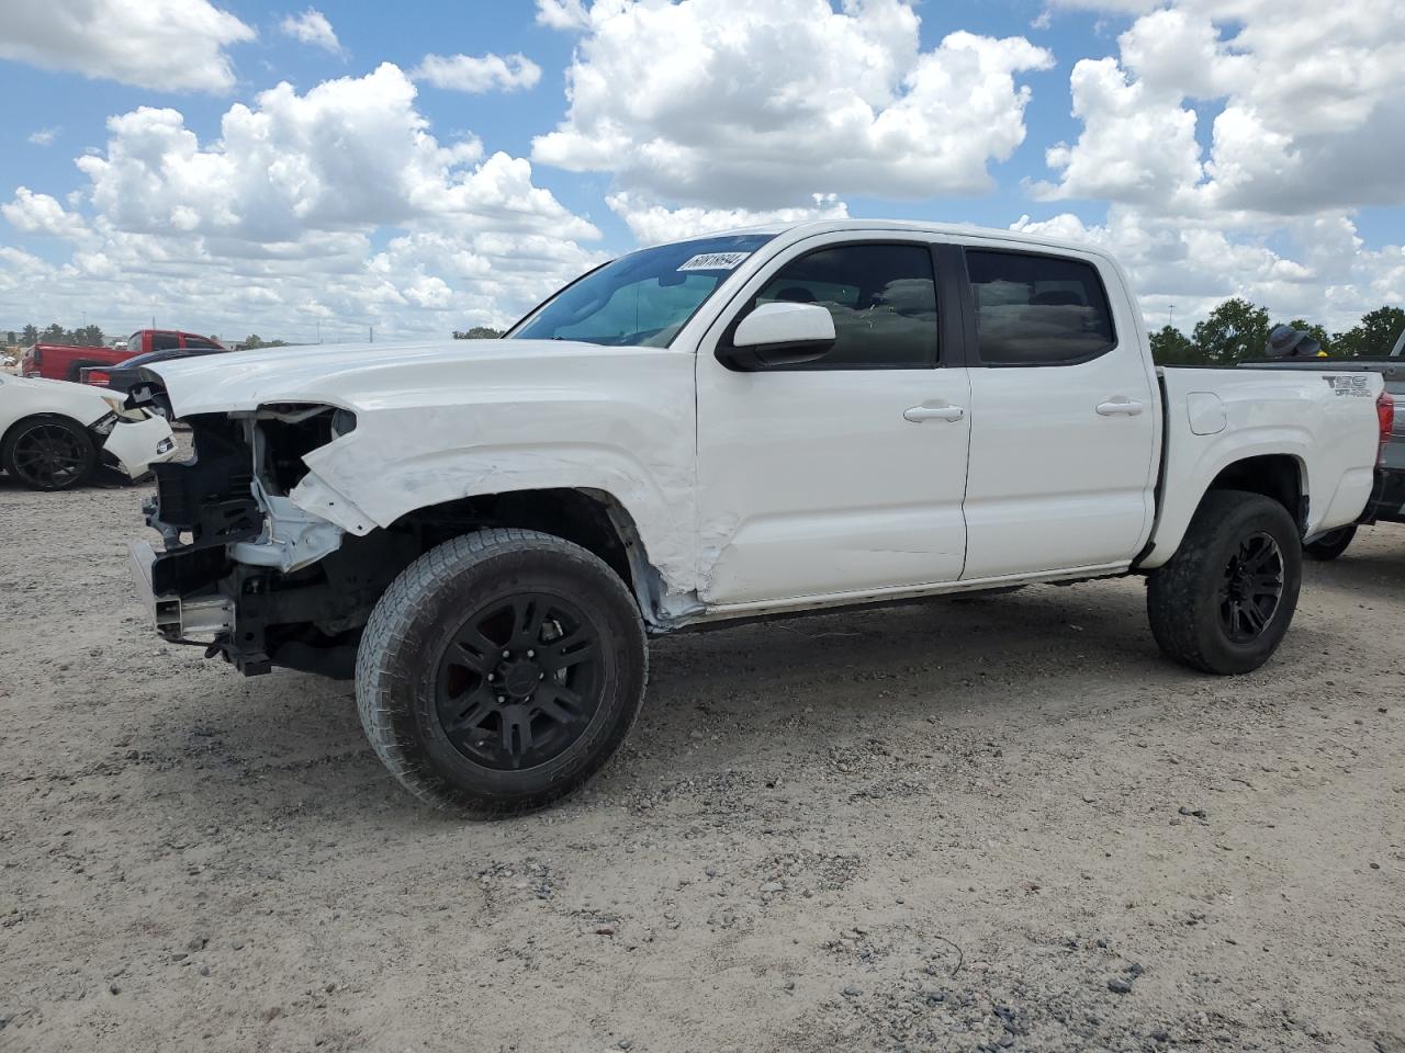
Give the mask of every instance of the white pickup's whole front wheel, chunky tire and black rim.
<svg viewBox="0 0 1405 1053">
<path fill-rule="evenodd" d="M 357 706 L 412 793 L 479 817 L 544 807 L 620 748 L 648 649 L 620 576 L 547 534 L 486 529 L 431 549 L 377 604 Z"/>
</svg>

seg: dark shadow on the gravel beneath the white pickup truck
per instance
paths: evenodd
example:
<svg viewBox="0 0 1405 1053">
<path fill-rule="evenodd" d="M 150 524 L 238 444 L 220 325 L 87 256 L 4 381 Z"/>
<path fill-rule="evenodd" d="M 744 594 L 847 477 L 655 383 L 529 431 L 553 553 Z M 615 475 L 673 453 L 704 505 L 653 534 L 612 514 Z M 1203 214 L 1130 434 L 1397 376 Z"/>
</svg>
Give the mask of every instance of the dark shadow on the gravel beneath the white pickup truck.
<svg viewBox="0 0 1405 1053">
<path fill-rule="evenodd" d="M 655 640 L 628 755 L 596 785 L 608 793 L 672 783 L 680 762 L 710 771 L 715 761 L 688 755 L 700 727 L 725 733 L 726 765 L 746 769 L 776 762 L 780 726 L 791 755 L 822 757 L 868 743 L 875 730 L 924 727 L 972 706 L 998 719 L 1013 710 L 1020 720 L 1050 719 L 1138 678 L 1194 681 L 1161 658 L 1142 604 L 1141 590 L 1125 584 L 1037 587 Z M 222 698 L 157 713 L 160 724 L 149 729 L 152 741 L 167 743 L 157 782 L 164 771 L 180 782 L 181 767 L 202 769 L 194 800 L 178 807 L 247 821 L 260 813 L 264 821 L 436 821 L 371 753 L 350 684 L 291 673 L 228 677 Z"/>
</svg>

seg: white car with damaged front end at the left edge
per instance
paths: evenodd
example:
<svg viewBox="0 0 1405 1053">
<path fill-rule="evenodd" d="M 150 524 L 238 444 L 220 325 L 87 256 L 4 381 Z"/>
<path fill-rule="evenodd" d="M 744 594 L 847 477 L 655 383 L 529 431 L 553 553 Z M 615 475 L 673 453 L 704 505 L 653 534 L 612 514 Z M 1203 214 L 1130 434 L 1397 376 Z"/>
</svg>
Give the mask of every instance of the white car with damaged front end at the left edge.
<svg viewBox="0 0 1405 1053">
<path fill-rule="evenodd" d="M 100 468 L 136 480 L 176 456 L 170 425 L 111 392 L 0 373 L 0 468 L 22 486 L 67 490 Z"/>
</svg>

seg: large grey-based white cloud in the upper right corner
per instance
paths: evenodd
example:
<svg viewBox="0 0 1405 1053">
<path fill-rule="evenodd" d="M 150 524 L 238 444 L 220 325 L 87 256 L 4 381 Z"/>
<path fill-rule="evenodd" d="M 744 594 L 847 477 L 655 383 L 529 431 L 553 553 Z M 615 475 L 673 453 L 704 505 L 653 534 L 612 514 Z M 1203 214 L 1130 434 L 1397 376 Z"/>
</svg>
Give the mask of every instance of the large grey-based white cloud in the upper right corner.
<svg viewBox="0 0 1405 1053">
<path fill-rule="evenodd" d="M 1405 6 L 1182 0 L 1118 49 L 1073 67 L 1083 131 L 1048 152 L 1059 178 L 1041 197 L 1200 215 L 1405 204 Z"/>
</svg>

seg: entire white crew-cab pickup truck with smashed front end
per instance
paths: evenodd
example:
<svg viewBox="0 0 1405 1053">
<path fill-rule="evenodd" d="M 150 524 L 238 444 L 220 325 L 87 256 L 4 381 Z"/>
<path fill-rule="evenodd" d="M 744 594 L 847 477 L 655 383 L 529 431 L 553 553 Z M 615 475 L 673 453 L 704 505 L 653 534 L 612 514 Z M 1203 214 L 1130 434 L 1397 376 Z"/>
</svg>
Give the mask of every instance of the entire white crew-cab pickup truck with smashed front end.
<svg viewBox="0 0 1405 1053">
<path fill-rule="evenodd" d="M 1253 670 L 1380 441 L 1377 375 L 1156 369 L 1099 250 L 896 222 L 645 249 L 502 340 L 146 379 L 197 449 L 133 546 L 159 630 L 354 671 L 391 772 L 473 814 L 582 785 L 646 635 L 719 619 L 1144 574 L 1166 654 Z"/>
</svg>

